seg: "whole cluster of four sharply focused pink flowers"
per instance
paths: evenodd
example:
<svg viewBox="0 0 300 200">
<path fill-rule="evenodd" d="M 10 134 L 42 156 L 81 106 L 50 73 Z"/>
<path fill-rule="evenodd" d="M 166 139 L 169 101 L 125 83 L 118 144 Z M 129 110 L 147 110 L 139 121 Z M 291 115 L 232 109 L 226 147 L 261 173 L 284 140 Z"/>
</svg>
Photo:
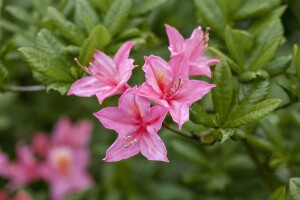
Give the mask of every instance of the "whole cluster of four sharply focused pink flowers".
<svg viewBox="0 0 300 200">
<path fill-rule="evenodd" d="M 189 107 L 201 99 L 215 85 L 190 76 L 211 77 L 210 65 L 219 58 L 204 55 L 208 45 L 208 29 L 196 28 L 191 37 L 184 39 L 173 27 L 166 25 L 171 58 L 145 57 L 142 67 L 146 81 L 139 87 L 130 87 L 133 59 L 129 58 L 134 42 L 125 43 L 113 59 L 98 50 L 88 67 L 81 66 L 90 75 L 77 80 L 68 95 L 96 96 L 104 99 L 122 94 L 118 107 L 103 108 L 94 115 L 108 129 L 119 136 L 107 150 L 104 161 L 114 162 L 141 152 L 149 160 L 168 162 L 164 143 L 158 136 L 162 122 L 170 113 L 179 129 L 189 120 Z M 157 105 L 151 106 L 150 101 Z"/>
</svg>

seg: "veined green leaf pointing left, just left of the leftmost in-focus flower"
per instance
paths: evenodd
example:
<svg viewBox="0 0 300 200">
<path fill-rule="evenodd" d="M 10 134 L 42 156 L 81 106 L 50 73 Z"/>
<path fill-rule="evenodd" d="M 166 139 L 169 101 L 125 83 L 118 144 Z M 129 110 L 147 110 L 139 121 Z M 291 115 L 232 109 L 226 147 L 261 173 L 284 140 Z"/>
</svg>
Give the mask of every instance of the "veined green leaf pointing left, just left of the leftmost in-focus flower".
<svg viewBox="0 0 300 200">
<path fill-rule="evenodd" d="M 28 63 L 32 70 L 55 81 L 73 81 L 68 71 L 59 67 L 46 53 L 32 47 L 21 47 L 19 51 L 22 59 Z"/>
</svg>

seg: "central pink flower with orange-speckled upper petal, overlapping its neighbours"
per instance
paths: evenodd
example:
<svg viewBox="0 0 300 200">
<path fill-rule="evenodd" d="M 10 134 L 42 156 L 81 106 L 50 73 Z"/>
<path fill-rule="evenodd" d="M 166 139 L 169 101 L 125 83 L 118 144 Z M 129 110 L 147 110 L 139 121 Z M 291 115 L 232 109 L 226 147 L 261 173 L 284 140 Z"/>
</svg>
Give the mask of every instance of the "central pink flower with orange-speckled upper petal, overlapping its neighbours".
<svg viewBox="0 0 300 200">
<path fill-rule="evenodd" d="M 189 106 L 215 85 L 188 80 L 188 62 L 184 54 L 174 55 L 169 63 L 157 56 L 145 57 L 146 82 L 135 92 L 169 109 L 181 129 L 189 120 Z"/>
</svg>

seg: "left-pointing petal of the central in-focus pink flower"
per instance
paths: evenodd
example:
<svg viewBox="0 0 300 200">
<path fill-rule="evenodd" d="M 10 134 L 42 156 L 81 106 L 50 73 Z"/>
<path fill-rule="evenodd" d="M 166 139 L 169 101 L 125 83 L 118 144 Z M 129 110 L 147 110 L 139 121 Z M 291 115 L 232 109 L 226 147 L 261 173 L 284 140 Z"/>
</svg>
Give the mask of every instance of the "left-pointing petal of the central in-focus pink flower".
<svg viewBox="0 0 300 200">
<path fill-rule="evenodd" d="M 169 103 L 161 98 L 160 94 L 157 94 L 156 91 L 153 90 L 153 88 L 148 83 L 143 83 L 136 91 L 134 91 L 135 94 L 146 97 L 149 100 L 154 101 L 155 103 L 168 107 Z"/>
</svg>

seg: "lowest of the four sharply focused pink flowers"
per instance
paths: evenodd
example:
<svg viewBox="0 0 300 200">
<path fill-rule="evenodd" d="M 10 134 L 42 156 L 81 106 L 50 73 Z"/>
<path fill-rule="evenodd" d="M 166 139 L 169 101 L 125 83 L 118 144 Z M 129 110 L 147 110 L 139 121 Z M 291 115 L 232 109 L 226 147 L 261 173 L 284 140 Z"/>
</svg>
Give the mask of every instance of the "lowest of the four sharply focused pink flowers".
<svg viewBox="0 0 300 200">
<path fill-rule="evenodd" d="M 166 147 L 157 134 L 168 110 L 161 106 L 150 107 L 148 99 L 134 94 L 136 89 L 128 89 L 117 108 L 103 108 L 94 113 L 104 127 L 119 134 L 104 161 L 115 162 L 141 152 L 149 160 L 169 162 Z"/>
</svg>

